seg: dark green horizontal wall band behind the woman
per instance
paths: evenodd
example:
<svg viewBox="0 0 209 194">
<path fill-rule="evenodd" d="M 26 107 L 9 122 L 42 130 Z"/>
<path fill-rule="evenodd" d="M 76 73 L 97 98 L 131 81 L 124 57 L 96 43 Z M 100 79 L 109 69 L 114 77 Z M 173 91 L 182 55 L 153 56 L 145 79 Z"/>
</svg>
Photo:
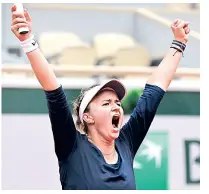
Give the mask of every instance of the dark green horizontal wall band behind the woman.
<svg viewBox="0 0 209 194">
<path fill-rule="evenodd" d="M 66 89 L 72 108 L 79 89 Z M 40 114 L 47 113 L 46 99 L 41 89 L 2 89 L 2 113 Z M 125 112 L 130 114 L 130 112 Z M 159 108 L 159 115 L 200 115 L 200 92 L 168 91 Z"/>
</svg>

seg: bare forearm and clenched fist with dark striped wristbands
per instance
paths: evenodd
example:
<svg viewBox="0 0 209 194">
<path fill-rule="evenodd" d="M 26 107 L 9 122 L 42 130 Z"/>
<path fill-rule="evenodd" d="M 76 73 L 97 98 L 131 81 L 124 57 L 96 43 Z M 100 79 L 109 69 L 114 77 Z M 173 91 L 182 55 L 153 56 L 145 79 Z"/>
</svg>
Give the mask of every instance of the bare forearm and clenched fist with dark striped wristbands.
<svg viewBox="0 0 209 194">
<path fill-rule="evenodd" d="M 159 86 L 164 91 L 168 89 L 182 58 L 183 53 L 179 51 L 182 50 L 183 47 L 181 48 L 181 46 L 178 45 L 180 45 L 180 43 L 187 43 L 190 32 L 189 23 L 180 19 L 174 21 L 171 24 L 171 29 L 174 34 L 174 39 L 179 42 L 173 42 L 176 43 L 172 45 L 172 47 L 175 48 L 170 48 L 168 50 L 164 59 L 159 64 L 154 73 L 150 76 L 147 82 L 149 84 Z"/>
</svg>

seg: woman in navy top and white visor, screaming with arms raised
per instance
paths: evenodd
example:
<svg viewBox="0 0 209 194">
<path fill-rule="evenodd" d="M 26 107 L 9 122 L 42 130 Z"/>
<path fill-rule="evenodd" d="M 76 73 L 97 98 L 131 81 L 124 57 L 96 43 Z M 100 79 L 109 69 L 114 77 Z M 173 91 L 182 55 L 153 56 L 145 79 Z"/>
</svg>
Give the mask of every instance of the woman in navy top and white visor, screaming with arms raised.
<svg viewBox="0 0 209 194">
<path fill-rule="evenodd" d="M 11 10 L 11 29 L 46 94 L 62 189 L 136 189 L 134 156 L 182 58 L 189 24 L 182 20 L 172 23 L 175 40 L 124 126 L 121 100 L 126 90 L 118 80 L 81 92 L 74 105 L 75 126 L 62 86 L 33 38 L 29 13 L 25 10 L 24 19 L 15 6 Z M 29 33 L 20 35 L 20 27 L 28 27 Z"/>
</svg>

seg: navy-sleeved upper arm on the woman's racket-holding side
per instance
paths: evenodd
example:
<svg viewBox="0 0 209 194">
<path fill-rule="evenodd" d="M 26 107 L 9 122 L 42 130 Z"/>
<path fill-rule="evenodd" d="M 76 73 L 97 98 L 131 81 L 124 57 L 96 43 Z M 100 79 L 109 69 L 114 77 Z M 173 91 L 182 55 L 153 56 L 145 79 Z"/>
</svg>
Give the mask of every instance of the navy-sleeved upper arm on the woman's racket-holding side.
<svg viewBox="0 0 209 194">
<path fill-rule="evenodd" d="M 45 91 L 49 118 L 55 143 L 55 152 L 59 160 L 71 153 L 76 141 L 76 128 L 71 115 L 67 97 L 60 86 L 53 91 Z"/>
</svg>

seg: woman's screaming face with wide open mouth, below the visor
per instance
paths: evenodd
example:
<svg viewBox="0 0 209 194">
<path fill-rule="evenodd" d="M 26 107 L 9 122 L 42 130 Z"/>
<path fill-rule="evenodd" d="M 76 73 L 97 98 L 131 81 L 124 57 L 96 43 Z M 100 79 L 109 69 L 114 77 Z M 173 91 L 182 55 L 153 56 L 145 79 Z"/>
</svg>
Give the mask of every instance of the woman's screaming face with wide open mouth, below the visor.
<svg viewBox="0 0 209 194">
<path fill-rule="evenodd" d="M 123 124 L 123 109 L 116 93 L 110 89 L 102 90 L 91 101 L 89 109 L 98 134 L 106 140 L 116 139 Z"/>
</svg>

